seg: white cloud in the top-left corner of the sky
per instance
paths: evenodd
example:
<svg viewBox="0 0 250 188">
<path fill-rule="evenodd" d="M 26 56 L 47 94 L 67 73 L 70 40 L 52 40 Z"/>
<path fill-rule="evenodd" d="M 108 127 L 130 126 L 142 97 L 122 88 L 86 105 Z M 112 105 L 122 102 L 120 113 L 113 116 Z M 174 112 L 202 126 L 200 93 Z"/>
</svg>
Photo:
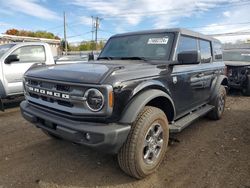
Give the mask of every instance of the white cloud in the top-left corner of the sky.
<svg viewBox="0 0 250 188">
<path fill-rule="evenodd" d="M 39 0 L 0 0 L 1 10 L 8 14 L 11 12 L 23 13 L 29 16 L 38 17 L 46 20 L 58 20 L 60 17 L 53 11 L 49 10 Z M 2 11 L 2 13 L 4 13 Z"/>
</svg>

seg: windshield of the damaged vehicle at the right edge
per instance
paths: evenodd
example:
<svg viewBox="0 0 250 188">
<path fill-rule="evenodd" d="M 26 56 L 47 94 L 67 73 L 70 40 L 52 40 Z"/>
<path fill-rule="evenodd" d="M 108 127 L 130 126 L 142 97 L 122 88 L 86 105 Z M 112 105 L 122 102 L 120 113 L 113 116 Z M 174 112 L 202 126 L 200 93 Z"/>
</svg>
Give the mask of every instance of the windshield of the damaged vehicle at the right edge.
<svg viewBox="0 0 250 188">
<path fill-rule="evenodd" d="M 250 62 L 250 51 L 226 51 L 223 52 L 224 61 L 247 61 Z"/>
</svg>

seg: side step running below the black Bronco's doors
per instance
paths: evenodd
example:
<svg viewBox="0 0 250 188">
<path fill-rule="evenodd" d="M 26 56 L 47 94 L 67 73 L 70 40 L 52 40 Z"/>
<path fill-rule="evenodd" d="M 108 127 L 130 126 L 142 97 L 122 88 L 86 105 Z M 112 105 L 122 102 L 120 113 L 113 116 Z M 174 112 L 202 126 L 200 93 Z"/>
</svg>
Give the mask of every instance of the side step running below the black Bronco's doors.
<svg viewBox="0 0 250 188">
<path fill-rule="evenodd" d="M 169 125 L 170 133 L 181 132 L 185 127 L 190 125 L 196 119 L 206 115 L 213 108 L 214 108 L 214 106 L 207 104 L 207 105 L 200 107 L 199 109 L 189 113 L 188 115 L 182 117 L 181 119 L 179 119 L 176 122 Z"/>
</svg>

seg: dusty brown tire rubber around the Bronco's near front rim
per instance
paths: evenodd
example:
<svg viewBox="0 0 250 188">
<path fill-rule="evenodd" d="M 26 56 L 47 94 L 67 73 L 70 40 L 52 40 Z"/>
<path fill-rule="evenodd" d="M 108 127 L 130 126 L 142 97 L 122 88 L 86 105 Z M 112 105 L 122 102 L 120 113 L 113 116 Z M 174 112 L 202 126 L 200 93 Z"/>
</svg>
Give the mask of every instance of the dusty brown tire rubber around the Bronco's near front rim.
<svg viewBox="0 0 250 188">
<path fill-rule="evenodd" d="M 152 164 L 147 164 L 145 162 L 144 144 L 149 131 L 152 131 L 152 126 L 155 126 L 157 123 L 162 128 L 162 147 L 155 161 Z M 144 107 L 132 124 L 128 138 L 118 153 L 118 163 L 121 169 L 126 174 L 137 179 L 142 179 L 152 174 L 165 157 L 168 140 L 169 126 L 165 113 L 152 106 Z"/>
</svg>

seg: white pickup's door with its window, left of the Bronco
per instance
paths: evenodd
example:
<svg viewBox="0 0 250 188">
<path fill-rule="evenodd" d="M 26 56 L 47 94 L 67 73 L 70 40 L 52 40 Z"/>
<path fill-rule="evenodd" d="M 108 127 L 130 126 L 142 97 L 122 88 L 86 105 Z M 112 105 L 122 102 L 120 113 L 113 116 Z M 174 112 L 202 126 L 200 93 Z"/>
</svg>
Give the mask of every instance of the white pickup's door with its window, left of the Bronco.
<svg viewBox="0 0 250 188">
<path fill-rule="evenodd" d="M 17 55 L 19 61 L 3 64 L 4 81 L 7 86 L 7 95 L 23 92 L 23 74 L 35 63 L 46 61 L 45 49 L 42 45 L 21 46 L 9 55 Z"/>
</svg>

